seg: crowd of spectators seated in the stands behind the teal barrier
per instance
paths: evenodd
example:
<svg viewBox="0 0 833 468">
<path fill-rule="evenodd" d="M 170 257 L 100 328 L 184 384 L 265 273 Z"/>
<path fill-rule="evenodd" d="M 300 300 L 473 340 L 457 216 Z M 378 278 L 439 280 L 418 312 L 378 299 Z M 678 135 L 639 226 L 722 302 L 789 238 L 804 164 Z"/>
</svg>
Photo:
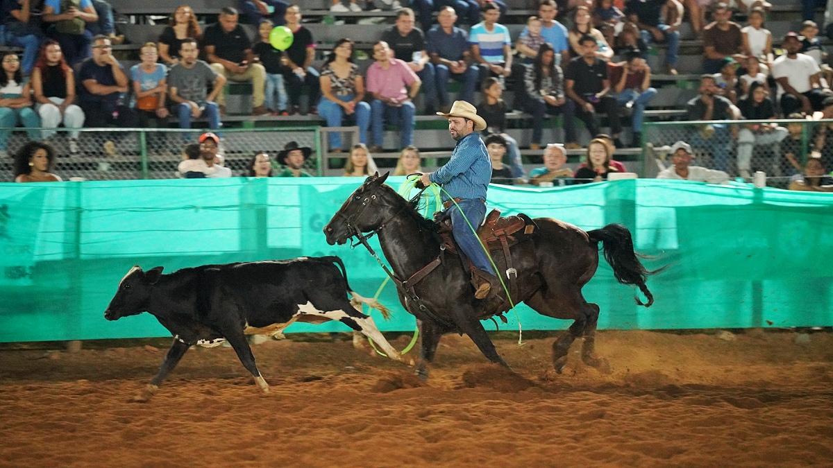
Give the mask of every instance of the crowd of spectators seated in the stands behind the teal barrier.
<svg viewBox="0 0 833 468">
<path fill-rule="evenodd" d="M 47 148 L 29 147 L 17 155 L 28 155 L 33 163 L 35 152 L 46 153 L 35 166 L 27 161 L 31 180 L 51 176 L 41 161 L 52 162 L 50 140 L 61 125 L 72 129 L 68 150 L 76 154 L 76 129 L 167 127 L 169 121 L 183 129 L 197 125 L 211 131 L 185 148 L 180 175 L 224 177 L 230 171 L 212 156 L 222 149 L 224 90 L 229 82 L 250 82 L 252 117 L 320 115 L 327 127 L 357 126 L 358 141 L 352 147 L 344 147 L 339 132 L 329 132 L 326 151 L 344 152 L 345 175 L 362 176 L 376 168 L 373 155 L 384 151 L 386 124 L 397 126 L 399 165 L 404 166 L 407 154 L 409 160 L 417 157 L 408 167 L 421 167 L 414 141 L 416 116 L 447 112 L 453 101 L 448 85 L 454 81 L 460 83 L 455 98 L 476 103 L 488 122 L 482 137 L 495 182 L 526 181 L 521 147 L 507 130 L 506 116 L 512 111 L 531 115 L 528 148 L 542 149 L 544 167 L 531 172 L 532 183 L 567 178 L 568 151 L 585 147 L 576 119 L 594 137 L 586 144 L 585 163 L 570 178 L 596 182 L 612 172 L 626 172 L 614 159 L 617 149 L 642 146 L 646 106 L 657 94 L 651 87 L 650 47 L 662 44 L 666 52 L 661 72 L 676 75 L 680 27 L 687 18 L 702 40 L 705 73 L 698 96 L 687 103 L 686 118 L 711 123 L 693 126 L 686 141 L 674 145 L 671 166 L 661 177 L 722 180 L 688 165 L 701 154 L 717 172 L 748 178 L 754 171 L 752 156 L 761 148 L 776 153 L 779 175 L 801 174 L 804 155 L 811 150 L 821 156 L 823 167 L 833 162 L 833 138 L 827 138 L 831 126 L 819 127 L 806 147 L 808 138 L 797 142 L 801 130 L 761 122 L 806 119 L 814 113 L 833 116 L 833 69 L 826 65 L 816 23 L 805 21 L 800 34 L 786 34 L 783 53 L 776 57 L 774 38 L 765 26 L 768 2 L 540 0 L 516 42 L 501 23 L 507 9 L 498 0 L 387 4 L 397 8 L 395 22 L 372 44 L 372 64 L 362 72 L 354 62 L 356 43 L 347 37 L 333 44 L 322 66 L 313 66 L 317 42 L 304 26 L 301 7 L 282 0 L 223 7 L 217 22 L 204 28 L 191 7 L 177 7 L 158 41 L 144 43 L 141 62 L 129 69 L 113 53 L 123 37 L 117 35 L 107 2 L 45 0 L 36 5 L 32 0 L 3 0 L 0 38 L 22 52 L 7 52 L 0 59 L 0 127 L 42 128 L 28 131 L 28 137 L 42 140 Z M 333 0 L 331 10 L 364 7 L 361 0 Z M 748 17 L 748 25 L 732 21 L 738 12 Z M 249 36 L 242 17 L 257 25 L 256 37 Z M 467 31 L 463 23 L 468 23 Z M 270 42 L 277 25 L 292 32 L 286 50 Z M 502 98 L 506 89 L 513 92 L 511 103 Z M 302 109 L 305 93 L 309 104 Z M 544 141 L 547 115 L 561 116 L 562 142 Z M 601 116 L 606 117 L 609 136 L 601 134 Z M 623 131 L 625 117 L 630 134 Z M 116 132 L 105 135 L 102 150 L 112 155 Z M 8 130 L 0 131 L 0 151 L 5 152 L 8 137 Z M 274 152 L 254 154 L 245 174 L 308 175 L 303 165 L 311 148 L 292 142 Z M 16 166 L 15 171 L 26 167 Z M 23 175 L 16 174 L 18 179 Z"/>
</svg>

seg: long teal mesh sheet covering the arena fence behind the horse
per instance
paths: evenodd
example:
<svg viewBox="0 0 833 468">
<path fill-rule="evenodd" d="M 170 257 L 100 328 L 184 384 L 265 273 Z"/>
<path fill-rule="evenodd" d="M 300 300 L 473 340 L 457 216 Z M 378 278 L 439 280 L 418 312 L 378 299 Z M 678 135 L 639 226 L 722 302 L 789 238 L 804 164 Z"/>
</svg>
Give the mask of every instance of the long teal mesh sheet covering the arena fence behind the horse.
<svg viewBox="0 0 833 468">
<path fill-rule="evenodd" d="M 322 233 L 361 182 L 235 177 L 0 184 L 0 341 L 167 336 L 148 314 L 116 322 L 102 316 L 133 265 L 170 272 L 338 255 L 351 285 L 373 296 L 386 277 L 376 261 L 361 248 L 327 245 Z M 399 187 L 404 178 L 389 182 Z M 647 266 L 670 265 L 649 280 L 656 304 L 646 309 L 601 261 L 584 293 L 601 307 L 602 328 L 833 325 L 830 194 L 637 179 L 549 189 L 492 186 L 489 204 L 588 230 L 624 223 L 636 249 L 656 256 Z M 413 329 L 390 283 L 380 300 L 394 311 L 392 321 L 376 317 L 382 330 Z M 518 311 L 525 330 L 570 325 L 526 306 Z M 507 317 L 501 329 L 516 330 L 516 316 Z M 347 328 L 295 324 L 288 331 Z"/>
</svg>

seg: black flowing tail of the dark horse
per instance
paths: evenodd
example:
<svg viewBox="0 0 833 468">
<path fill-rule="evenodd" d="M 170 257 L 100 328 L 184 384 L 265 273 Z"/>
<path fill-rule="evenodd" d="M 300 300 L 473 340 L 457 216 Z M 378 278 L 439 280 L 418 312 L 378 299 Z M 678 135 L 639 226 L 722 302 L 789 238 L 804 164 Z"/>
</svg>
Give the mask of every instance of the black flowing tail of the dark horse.
<svg viewBox="0 0 833 468">
<path fill-rule="evenodd" d="M 651 291 L 648 291 L 645 281 L 648 275 L 652 275 L 661 269 L 650 271 L 642 265 L 636 251 L 634 251 L 631 232 L 628 231 L 627 227 L 621 224 L 608 224 L 601 229 L 587 232 L 587 235 L 590 236 L 592 242 L 601 242 L 605 259 L 613 268 L 613 276 L 616 276 L 616 281 L 621 284 L 639 287 L 642 294 L 648 299 L 643 304 L 637 296 L 636 304 L 650 307 L 654 303 L 654 296 Z"/>
</svg>

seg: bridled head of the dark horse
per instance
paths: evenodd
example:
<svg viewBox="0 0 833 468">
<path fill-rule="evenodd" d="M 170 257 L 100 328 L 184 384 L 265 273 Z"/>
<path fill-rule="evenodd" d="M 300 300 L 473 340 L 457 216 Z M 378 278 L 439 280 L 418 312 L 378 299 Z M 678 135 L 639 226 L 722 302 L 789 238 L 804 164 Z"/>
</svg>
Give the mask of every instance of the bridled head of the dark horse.
<svg viewBox="0 0 833 468">
<path fill-rule="evenodd" d="M 342 245 L 352 236 L 362 232 L 371 232 L 391 217 L 394 201 L 397 198 L 385 197 L 392 193 L 390 187 L 384 185 L 389 172 L 384 176 L 379 173 L 367 177 L 361 187 L 352 192 L 330 222 L 324 227 L 324 234 L 327 236 L 327 243 Z"/>
</svg>

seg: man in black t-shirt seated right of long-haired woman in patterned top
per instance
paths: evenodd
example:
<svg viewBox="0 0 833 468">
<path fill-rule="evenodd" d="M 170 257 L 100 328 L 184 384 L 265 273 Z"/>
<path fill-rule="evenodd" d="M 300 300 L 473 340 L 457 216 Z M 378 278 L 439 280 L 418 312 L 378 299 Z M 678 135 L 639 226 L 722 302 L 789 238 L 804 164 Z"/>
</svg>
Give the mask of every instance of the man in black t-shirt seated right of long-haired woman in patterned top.
<svg viewBox="0 0 833 468">
<path fill-rule="evenodd" d="M 581 56 L 573 58 L 564 69 L 566 95 L 576 102 L 576 117 L 585 123 L 591 135 L 599 133 L 596 112 L 606 113 L 613 142 L 622 147 L 619 105 L 608 95 L 611 81 L 607 79 L 607 62 L 596 57 L 596 37 L 585 34 L 578 43 Z"/>
</svg>

